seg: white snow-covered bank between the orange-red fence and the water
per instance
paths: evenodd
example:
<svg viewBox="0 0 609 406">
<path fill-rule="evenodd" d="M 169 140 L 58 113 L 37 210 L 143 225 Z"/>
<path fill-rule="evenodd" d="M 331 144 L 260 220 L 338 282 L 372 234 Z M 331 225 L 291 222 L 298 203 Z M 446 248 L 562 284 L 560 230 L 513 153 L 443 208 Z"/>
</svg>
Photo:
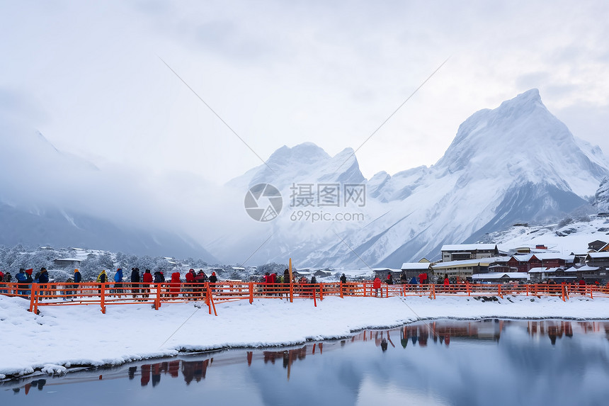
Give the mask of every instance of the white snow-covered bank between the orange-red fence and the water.
<svg viewBox="0 0 609 406">
<path fill-rule="evenodd" d="M 609 319 L 609 298 L 334 298 L 245 300 L 217 305 L 218 316 L 192 303 L 41 308 L 0 296 L 0 378 L 35 371 L 61 373 L 75 366 L 119 364 L 238 346 L 278 346 L 346 337 L 365 328 L 393 327 L 431 318 Z"/>
</svg>

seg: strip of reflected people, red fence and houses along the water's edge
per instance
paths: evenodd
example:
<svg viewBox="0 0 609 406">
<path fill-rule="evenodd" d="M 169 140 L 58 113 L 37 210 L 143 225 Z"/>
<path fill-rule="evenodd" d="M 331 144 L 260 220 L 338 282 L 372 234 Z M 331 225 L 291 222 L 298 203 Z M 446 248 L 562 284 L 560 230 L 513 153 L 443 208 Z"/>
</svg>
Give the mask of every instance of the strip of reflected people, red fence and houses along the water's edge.
<svg viewBox="0 0 609 406">
<path fill-rule="evenodd" d="M 304 344 L 288 349 L 251 349 L 229 350 L 206 354 L 183 355 L 178 359 L 164 360 L 154 363 L 130 364 L 115 368 L 99 368 L 82 373 L 70 373 L 64 377 L 49 377 L 47 379 L 25 379 L 13 381 L 7 386 L 15 395 L 31 393 L 32 388 L 42 391 L 50 385 L 64 383 L 86 382 L 125 378 L 140 380 L 141 387 L 156 388 L 161 381 L 168 379 L 183 380 L 186 385 L 201 383 L 206 376 L 222 366 L 235 366 L 245 364 L 245 368 L 277 368 L 285 369 L 285 378 L 290 380 L 292 369 L 298 368 L 299 363 L 310 357 L 321 357 L 328 351 L 339 351 L 351 343 L 364 343 L 363 348 L 374 345 L 379 352 L 392 354 L 393 351 L 409 351 L 413 347 L 424 349 L 427 346 L 442 346 L 451 351 L 452 347 L 461 342 L 485 342 L 499 345 L 501 334 L 506 331 L 516 332 L 518 337 L 528 337 L 531 341 L 547 338 L 552 346 L 560 340 L 582 339 L 584 336 L 596 336 L 596 339 L 609 340 L 609 322 L 580 322 L 566 320 L 478 320 L 454 321 L 436 320 L 430 322 L 417 322 L 404 325 L 397 329 L 365 330 L 353 336 L 328 341 Z M 526 338 L 524 338 L 526 339 Z M 518 342 L 506 344 L 508 348 L 518 351 Z M 451 351 L 452 352 L 452 351 Z M 209 371 L 208 371 L 209 370 Z M 27 383 L 24 383 L 26 382 Z M 46 385 L 46 386 L 45 386 Z M 8 388 L 7 388 L 8 389 Z"/>
</svg>

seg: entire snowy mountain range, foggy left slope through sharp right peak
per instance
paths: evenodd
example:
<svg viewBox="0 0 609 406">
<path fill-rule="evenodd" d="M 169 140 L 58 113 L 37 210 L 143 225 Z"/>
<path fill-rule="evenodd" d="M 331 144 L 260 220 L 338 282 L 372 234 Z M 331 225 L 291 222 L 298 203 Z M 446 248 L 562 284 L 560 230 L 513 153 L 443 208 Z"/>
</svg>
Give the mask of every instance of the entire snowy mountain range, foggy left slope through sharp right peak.
<svg viewBox="0 0 609 406">
<path fill-rule="evenodd" d="M 536 89 L 474 113 L 435 165 L 371 179 L 353 149 L 331 157 L 310 142 L 279 148 L 222 187 L 196 174 L 99 169 L 6 115 L 0 115 L 0 142 L 0 244 L 249 265 L 291 257 L 300 268 L 397 268 L 437 257 L 442 244 L 474 242 L 514 222 L 593 210 L 595 194 L 597 210 L 605 210 L 606 181 L 598 188 L 609 176 L 603 152 L 574 137 Z M 403 156 L 407 167 L 409 151 Z M 244 209 L 257 184 L 280 192 L 283 204 L 273 220 L 256 221 Z M 365 195 L 358 194 L 363 188 Z M 267 208 L 268 196 L 253 196 Z"/>
</svg>

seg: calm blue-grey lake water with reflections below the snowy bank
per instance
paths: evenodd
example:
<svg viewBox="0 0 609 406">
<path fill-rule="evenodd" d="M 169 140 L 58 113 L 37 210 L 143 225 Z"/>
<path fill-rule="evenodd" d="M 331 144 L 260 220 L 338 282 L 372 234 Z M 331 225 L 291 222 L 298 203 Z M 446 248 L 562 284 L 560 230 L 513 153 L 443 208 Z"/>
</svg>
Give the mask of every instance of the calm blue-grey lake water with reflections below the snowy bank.
<svg viewBox="0 0 609 406">
<path fill-rule="evenodd" d="M 0 405 L 609 405 L 609 322 L 453 321 L 0 383 Z"/>
</svg>

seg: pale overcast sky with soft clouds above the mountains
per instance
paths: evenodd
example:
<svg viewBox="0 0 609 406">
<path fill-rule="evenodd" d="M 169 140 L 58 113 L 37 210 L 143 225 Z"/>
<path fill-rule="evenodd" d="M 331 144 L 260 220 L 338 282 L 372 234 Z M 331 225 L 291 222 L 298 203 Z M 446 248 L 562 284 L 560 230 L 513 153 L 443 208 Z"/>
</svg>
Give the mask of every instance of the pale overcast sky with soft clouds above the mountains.
<svg viewBox="0 0 609 406">
<path fill-rule="evenodd" d="M 282 145 L 360 147 L 450 57 L 358 150 L 364 176 L 434 164 L 533 87 L 607 154 L 608 21 L 606 1 L 0 1 L 0 106 L 102 169 L 221 184 Z"/>
</svg>

